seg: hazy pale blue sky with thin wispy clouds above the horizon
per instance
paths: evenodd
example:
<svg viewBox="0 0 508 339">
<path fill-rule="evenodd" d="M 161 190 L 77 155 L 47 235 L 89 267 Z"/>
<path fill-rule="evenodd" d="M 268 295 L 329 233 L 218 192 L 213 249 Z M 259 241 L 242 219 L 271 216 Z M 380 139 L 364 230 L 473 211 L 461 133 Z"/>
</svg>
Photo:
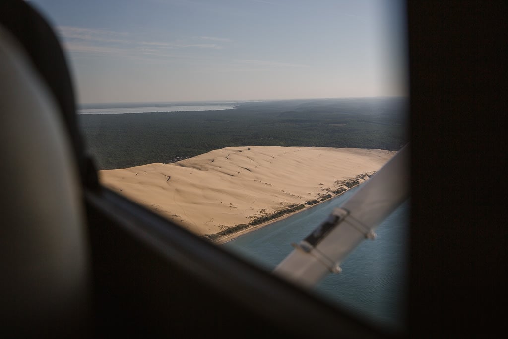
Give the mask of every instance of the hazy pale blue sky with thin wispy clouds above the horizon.
<svg viewBox="0 0 508 339">
<path fill-rule="evenodd" d="M 407 94 L 400 0 L 31 0 L 78 102 Z"/>
</svg>

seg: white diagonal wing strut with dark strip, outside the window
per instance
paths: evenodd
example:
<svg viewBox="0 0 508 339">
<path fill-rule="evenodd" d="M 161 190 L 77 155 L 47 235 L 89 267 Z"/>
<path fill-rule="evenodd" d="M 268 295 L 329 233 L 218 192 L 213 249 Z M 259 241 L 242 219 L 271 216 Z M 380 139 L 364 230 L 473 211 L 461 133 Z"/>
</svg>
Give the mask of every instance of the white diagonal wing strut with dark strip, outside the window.
<svg viewBox="0 0 508 339">
<path fill-rule="evenodd" d="M 360 190 L 335 208 L 274 269 L 274 273 L 304 287 L 312 287 L 340 264 L 364 239 L 409 197 L 409 145 L 404 146 Z"/>
</svg>

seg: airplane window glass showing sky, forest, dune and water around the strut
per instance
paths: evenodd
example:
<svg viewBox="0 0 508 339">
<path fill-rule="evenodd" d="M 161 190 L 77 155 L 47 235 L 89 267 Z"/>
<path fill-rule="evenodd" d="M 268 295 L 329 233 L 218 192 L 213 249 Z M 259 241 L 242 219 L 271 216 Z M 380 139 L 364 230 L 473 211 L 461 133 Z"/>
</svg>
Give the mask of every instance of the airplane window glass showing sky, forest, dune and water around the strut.
<svg viewBox="0 0 508 339">
<path fill-rule="evenodd" d="M 402 1 L 29 4 L 101 183 L 269 270 L 409 141 Z M 316 295 L 404 328 L 408 206 Z"/>
</svg>

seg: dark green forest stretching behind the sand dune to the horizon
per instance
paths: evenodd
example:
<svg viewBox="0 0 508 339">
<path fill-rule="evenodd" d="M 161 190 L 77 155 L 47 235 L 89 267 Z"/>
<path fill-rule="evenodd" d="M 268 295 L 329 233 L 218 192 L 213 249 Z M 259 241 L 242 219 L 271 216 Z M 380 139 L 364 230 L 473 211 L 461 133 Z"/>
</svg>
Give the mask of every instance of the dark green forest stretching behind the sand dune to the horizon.
<svg viewBox="0 0 508 339">
<path fill-rule="evenodd" d="M 408 142 L 404 98 L 242 103 L 221 111 L 80 114 L 99 169 L 171 163 L 230 146 L 399 150 Z"/>
</svg>

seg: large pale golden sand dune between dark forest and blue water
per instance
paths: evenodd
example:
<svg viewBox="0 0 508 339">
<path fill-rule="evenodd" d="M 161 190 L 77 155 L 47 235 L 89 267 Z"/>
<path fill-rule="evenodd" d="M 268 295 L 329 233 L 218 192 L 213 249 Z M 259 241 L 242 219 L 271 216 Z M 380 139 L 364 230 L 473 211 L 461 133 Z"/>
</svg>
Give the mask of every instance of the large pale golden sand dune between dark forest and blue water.
<svg viewBox="0 0 508 339">
<path fill-rule="evenodd" d="M 174 164 L 100 171 L 106 186 L 203 235 L 304 204 L 381 168 L 396 152 L 316 147 L 227 147 Z"/>
</svg>

